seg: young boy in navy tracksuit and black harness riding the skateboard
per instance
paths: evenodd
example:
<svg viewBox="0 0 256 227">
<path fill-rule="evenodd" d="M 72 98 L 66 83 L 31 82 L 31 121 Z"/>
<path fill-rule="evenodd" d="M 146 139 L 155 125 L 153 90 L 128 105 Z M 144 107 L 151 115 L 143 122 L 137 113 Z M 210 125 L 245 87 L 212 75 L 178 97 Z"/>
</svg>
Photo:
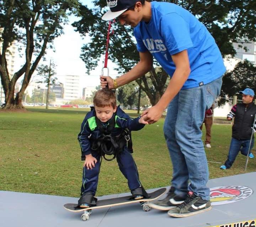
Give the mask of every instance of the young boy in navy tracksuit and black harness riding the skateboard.
<svg viewBox="0 0 256 227">
<path fill-rule="evenodd" d="M 140 117 L 130 118 L 117 107 L 116 97 L 110 89 L 104 88 L 95 93 L 94 110 L 86 114 L 78 135 L 81 159 L 85 160 L 78 206 L 86 208 L 96 205 L 97 199 L 94 196 L 100 173 L 100 158 L 106 154 L 116 157 L 120 171 L 128 180 L 133 199 L 148 197 L 139 181 L 132 150 L 128 148 L 130 136 L 127 129 L 142 129 L 145 125 L 142 121 Z"/>
</svg>

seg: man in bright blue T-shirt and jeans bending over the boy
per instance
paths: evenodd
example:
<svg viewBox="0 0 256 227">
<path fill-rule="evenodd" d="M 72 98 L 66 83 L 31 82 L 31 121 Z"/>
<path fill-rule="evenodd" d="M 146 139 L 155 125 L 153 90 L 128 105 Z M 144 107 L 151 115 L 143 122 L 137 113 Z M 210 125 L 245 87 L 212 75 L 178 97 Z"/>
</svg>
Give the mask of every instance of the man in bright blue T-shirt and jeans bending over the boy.
<svg viewBox="0 0 256 227">
<path fill-rule="evenodd" d="M 151 204 L 187 217 L 211 209 L 208 165 L 200 126 L 204 113 L 220 94 L 223 59 L 212 35 L 190 12 L 168 2 L 107 0 L 102 20 L 118 18 L 134 28 L 140 61 L 117 79 L 101 76 L 101 86 L 118 88 L 147 73 L 153 57 L 171 77 L 158 103 L 143 112 L 155 123 L 168 106 L 164 135 L 173 165 L 166 198 Z M 188 181 L 190 184 L 188 185 Z"/>
</svg>

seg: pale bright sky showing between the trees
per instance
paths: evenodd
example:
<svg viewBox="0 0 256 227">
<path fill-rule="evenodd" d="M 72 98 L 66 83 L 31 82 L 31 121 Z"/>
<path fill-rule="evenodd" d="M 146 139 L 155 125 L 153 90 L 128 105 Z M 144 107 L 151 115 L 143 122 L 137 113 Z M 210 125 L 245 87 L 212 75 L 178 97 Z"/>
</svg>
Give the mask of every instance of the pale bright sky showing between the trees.
<svg viewBox="0 0 256 227">
<path fill-rule="evenodd" d="M 88 5 L 88 0 L 81 1 L 84 4 Z M 86 2 L 86 3 L 85 3 Z M 92 3 L 89 2 L 89 5 L 92 6 Z M 41 60 L 40 64 L 49 64 L 50 59 L 56 65 L 56 77 L 58 82 L 64 82 L 64 75 L 79 75 L 81 79 L 80 87 L 96 87 L 100 84 L 100 74 L 103 67 L 104 56 L 101 56 L 101 61 L 98 62 L 98 67 L 95 70 L 90 72 L 90 75 L 86 73 L 85 63 L 80 59 L 81 47 L 83 44 L 90 41 L 90 37 L 81 37 L 78 32 L 74 31 L 74 28 L 71 24 L 78 20 L 78 18 L 72 16 L 69 18 L 69 23 L 64 26 L 64 34 L 54 40 L 54 49 L 48 49 L 47 54 L 44 56 L 46 61 Z M 107 34 L 106 34 L 107 35 Z M 19 59 L 16 64 L 16 70 L 22 65 L 22 60 Z M 118 73 L 113 70 L 116 67 L 114 63 L 108 60 L 108 68 L 110 76 L 115 78 Z M 21 80 L 22 78 L 20 78 Z M 38 80 L 36 72 L 33 74 L 31 81 Z"/>
</svg>

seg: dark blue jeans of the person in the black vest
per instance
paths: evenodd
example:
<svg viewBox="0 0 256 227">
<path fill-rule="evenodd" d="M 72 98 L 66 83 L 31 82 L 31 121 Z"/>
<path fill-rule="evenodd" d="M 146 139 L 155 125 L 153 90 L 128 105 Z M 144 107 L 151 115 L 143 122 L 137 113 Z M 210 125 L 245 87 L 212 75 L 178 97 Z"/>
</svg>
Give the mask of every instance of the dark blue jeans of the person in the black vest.
<svg viewBox="0 0 256 227">
<path fill-rule="evenodd" d="M 247 156 L 249 151 L 249 145 L 250 145 L 250 139 L 239 140 L 232 137 L 230 147 L 229 147 L 228 159 L 225 161 L 225 164 L 224 164 L 226 168 L 230 168 L 233 165 L 239 151 L 241 151 L 242 155 Z M 250 151 L 253 148 L 253 146 L 254 146 L 254 139 L 252 139 Z"/>
</svg>

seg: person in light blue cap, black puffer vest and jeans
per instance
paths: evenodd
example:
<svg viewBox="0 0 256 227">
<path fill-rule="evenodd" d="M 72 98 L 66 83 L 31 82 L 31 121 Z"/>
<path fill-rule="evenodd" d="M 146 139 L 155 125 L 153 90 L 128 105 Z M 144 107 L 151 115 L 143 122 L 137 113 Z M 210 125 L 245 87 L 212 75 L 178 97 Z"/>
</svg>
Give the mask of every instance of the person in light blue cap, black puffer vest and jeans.
<svg viewBox="0 0 256 227">
<path fill-rule="evenodd" d="M 256 105 L 252 102 L 254 90 L 245 88 L 239 93 L 242 94 L 242 103 L 234 105 L 227 116 L 228 121 L 232 121 L 233 117 L 235 117 L 235 120 L 232 127 L 232 139 L 228 159 L 225 161 L 224 165 L 220 166 L 222 170 L 226 170 L 232 166 L 239 151 L 245 156 L 250 152 L 249 157 L 251 159 L 254 158 L 254 155 L 251 153 L 251 149 L 254 145 L 254 136 L 252 137 L 250 145 L 252 127 L 255 124 L 254 117 L 256 114 Z"/>
</svg>

